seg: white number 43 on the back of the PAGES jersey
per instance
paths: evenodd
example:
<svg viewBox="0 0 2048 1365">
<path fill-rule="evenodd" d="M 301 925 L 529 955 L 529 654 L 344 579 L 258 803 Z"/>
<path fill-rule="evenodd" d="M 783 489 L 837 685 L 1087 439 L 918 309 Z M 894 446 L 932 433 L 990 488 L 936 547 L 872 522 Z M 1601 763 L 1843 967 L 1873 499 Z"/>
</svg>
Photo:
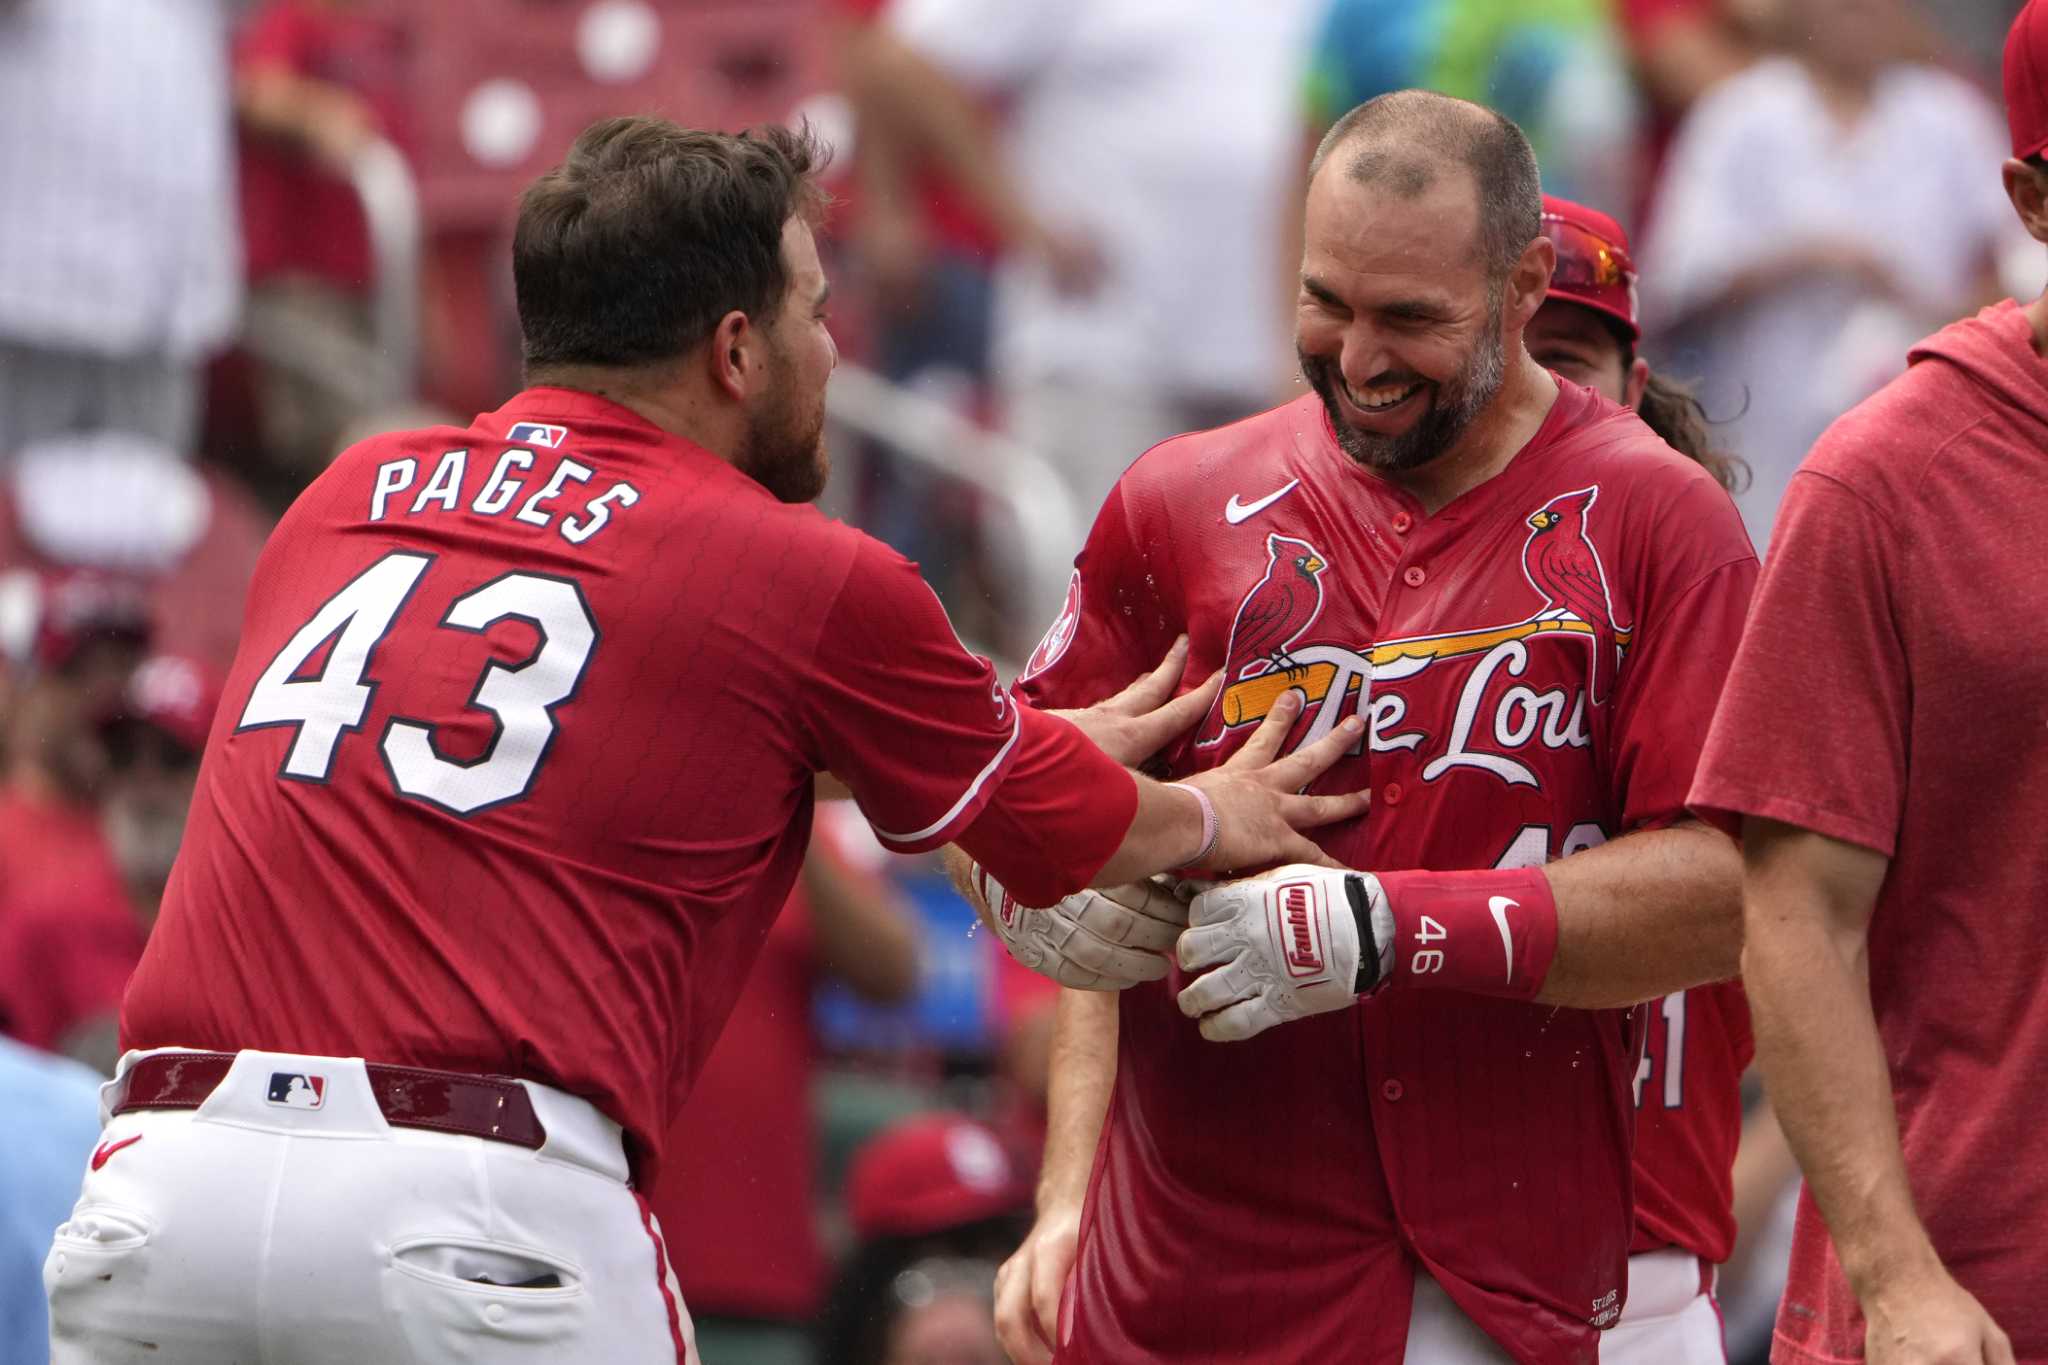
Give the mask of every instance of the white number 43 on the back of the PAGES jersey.
<svg viewBox="0 0 2048 1365">
<path fill-rule="evenodd" d="M 377 647 L 418 589 L 432 555 L 391 553 L 348 581 L 313 612 L 256 679 L 236 733 L 291 726 L 297 735 L 279 778 L 326 782 L 342 737 L 362 729 L 377 684 L 365 681 Z M 489 663 L 477 677 L 471 706 L 496 718 L 492 741 L 473 759 L 451 759 L 426 720 L 393 716 L 379 739 L 385 772 L 399 794 L 455 814 L 477 814 L 532 788 L 555 743 L 555 708 L 575 696 L 598 622 L 582 587 L 545 573 L 504 573 L 449 604 L 446 630 L 483 632 L 516 618 L 539 634 L 520 663 Z M 332 641 L 326 667 L 301 677 L 307 661 Z"/>
</svg>

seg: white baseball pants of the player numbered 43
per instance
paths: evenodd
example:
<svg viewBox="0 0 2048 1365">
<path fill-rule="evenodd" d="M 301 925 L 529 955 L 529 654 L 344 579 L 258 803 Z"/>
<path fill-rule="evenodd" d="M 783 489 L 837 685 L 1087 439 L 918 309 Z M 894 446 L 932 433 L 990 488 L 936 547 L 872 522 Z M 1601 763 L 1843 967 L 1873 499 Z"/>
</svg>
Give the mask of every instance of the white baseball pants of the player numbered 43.
<svg viewBox="0 0 2048 1365">
<path fill-rule="evenodd" d="M 694 1365 L 618 1126 L 522 1085 L 539 1150 L 393 1128 L 358 1058 L 281 1052 L 113 1117 L 43 1265 L 51 1365 Z"/>
</svg>

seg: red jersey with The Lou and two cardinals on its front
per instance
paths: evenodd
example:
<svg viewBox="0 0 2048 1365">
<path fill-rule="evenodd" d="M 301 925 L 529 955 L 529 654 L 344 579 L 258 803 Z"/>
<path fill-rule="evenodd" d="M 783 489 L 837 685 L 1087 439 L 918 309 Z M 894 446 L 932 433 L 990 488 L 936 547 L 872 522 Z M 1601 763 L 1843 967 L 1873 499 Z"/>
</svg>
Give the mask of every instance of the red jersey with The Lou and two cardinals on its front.
<svg viewBox="0 0 2048 1365">
<path fill-rule="evenodd" d="M 1225 686 L 1174 772 L 1298 688 L 1290 743 L 1368 724 L 1319 784 L 1374 792 L 1333 857 L 1530 866 L 1679 819 L 1753 575 L 1726 493 L 1587 389 L 1436 516 L 1305 397 L 1130 467 L 1024 692 L 1098 698 L 1188 630 Z M 1595 1357 L 1642 1011 L 1386 990 L 1210 1044 L 1184 984 L 1122 993 L 1063 1361 L 1401 1359 L 1417 1261 L 1518 1359 Z"/>
</svg>

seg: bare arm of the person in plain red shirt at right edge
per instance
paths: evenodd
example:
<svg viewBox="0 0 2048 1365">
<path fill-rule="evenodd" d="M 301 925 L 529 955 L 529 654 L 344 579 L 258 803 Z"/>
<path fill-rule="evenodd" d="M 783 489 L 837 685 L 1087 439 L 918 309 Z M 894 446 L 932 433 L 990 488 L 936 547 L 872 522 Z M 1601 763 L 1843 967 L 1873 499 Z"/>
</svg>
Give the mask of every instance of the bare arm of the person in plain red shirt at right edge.
<svg viewBox="0 0 2048 1365">
<path fill-rule="evenodd" d="M 1743 823 L 1743 978 L 1757 1062 L 1868 1318 L 1866 1357 L 2009 1365 L 1913 1209 L 1870 1009 L 1870 911 L 1890 862 L 1776 821 Z"/>
</svg>

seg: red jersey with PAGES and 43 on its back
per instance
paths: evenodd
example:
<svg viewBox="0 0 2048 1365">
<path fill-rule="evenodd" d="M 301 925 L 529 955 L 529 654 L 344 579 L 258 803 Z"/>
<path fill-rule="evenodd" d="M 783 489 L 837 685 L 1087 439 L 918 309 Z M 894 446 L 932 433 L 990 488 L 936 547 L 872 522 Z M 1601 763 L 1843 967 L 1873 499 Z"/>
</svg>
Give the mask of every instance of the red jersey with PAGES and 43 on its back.
<svg viewBox="0 0 2048 1365">
<path fill-rule="evenodd" d="M 645 1177 L 821 769 L 891 847 L 1038 896 L 1137 802 L 913 565 L 623 407 L 365 442 L 264 548 L 125 1046 L 526 1076 Z"/>
</svg>

